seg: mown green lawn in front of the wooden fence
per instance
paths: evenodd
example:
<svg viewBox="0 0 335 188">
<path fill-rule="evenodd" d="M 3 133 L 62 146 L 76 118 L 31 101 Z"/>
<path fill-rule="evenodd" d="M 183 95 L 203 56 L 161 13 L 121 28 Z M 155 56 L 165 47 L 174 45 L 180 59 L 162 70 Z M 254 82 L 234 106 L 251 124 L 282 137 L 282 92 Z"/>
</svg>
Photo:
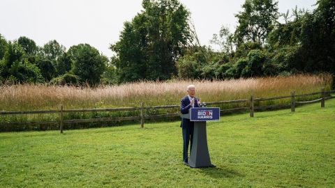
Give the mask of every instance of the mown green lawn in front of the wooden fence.
<svg viewBox="0 0 335 188">
<path fill-rule="evenodd" d="M 0 133 L 0 187 L 335 187 L 335 100 L 222 116 L 216 168 L 181 162 L 179 122 Z"/>
</svg>

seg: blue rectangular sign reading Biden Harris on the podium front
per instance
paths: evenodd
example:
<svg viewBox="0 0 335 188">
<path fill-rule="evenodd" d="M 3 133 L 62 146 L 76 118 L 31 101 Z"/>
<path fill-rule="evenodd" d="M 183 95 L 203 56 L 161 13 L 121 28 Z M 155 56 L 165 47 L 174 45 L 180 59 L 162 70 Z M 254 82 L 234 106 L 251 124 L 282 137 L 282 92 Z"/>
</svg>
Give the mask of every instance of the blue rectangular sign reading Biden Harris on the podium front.
<svg viewBox="0 0 335 188">
<path fill-rule="evenodd" d="M 220 120 L 220 108 L 191 108 L 190 120 Z"/>
</svg>

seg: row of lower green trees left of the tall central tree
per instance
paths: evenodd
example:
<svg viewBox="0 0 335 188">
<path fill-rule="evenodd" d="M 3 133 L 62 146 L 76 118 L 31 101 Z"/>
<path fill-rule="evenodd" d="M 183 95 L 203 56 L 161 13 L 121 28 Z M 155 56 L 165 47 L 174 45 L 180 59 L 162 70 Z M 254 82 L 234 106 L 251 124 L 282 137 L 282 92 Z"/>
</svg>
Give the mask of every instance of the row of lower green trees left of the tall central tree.
<svg viewBox="0 0 335 188">
<path fill-rule="evenodd" d="M 89 84 L 101 83 L 107 57 L 88 44 L 68 49 L 56 40 L 38 47 L 20 37 L 7 42 L 0 36 L 0 79 L 10 83 Z"/>
</svg>

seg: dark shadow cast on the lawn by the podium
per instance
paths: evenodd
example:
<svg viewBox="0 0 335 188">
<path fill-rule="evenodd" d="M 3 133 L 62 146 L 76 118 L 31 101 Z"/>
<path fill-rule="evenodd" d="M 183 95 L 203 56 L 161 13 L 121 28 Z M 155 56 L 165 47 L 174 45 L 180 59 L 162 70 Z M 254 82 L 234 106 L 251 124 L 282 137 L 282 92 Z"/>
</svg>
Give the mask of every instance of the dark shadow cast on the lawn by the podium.
<svg viewBox="0 0 335 188">
<path fill-rule="evenodd" d="M 241 173 L 238 171 L 228 169 L 225 167 L 218 167 L 215 168 L 201 168 L 200 173 L 204 173 L 205 175 L 211 176 L 211 178 L 221 179 L 221 178 L 234 178 L 234 177 L 243 177 Z"/>
</svg>

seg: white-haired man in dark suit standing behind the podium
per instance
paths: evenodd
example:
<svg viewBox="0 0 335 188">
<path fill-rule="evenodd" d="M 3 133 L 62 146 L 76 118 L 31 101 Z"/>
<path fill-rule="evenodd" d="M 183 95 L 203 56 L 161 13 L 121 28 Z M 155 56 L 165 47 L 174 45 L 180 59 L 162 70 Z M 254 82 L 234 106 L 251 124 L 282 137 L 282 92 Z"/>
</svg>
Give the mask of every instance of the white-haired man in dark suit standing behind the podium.
<svg viewBox="0 0 335 188">
<path fill-rule="evenodd" d="M 183 97 L 180 101 L 180 111 L 183 114 L 188 113 L 188 110 L 192 107 L 200 107 L 201 103 L 200 99 L 195 97 L 195 86 L 190 85 L 187 86 L 187 93 L 185 97 Z M 183 162 L 184 164 L 188 164 L 188 143 L 191 141 L 190 153 L 192 150 L 192 141 L 193 141 L 193 130 L 194 130 L 194 122 L 190 121 L 186 118 L 181 118 L 180 127 L 183 130 Z"/>
</svg>

